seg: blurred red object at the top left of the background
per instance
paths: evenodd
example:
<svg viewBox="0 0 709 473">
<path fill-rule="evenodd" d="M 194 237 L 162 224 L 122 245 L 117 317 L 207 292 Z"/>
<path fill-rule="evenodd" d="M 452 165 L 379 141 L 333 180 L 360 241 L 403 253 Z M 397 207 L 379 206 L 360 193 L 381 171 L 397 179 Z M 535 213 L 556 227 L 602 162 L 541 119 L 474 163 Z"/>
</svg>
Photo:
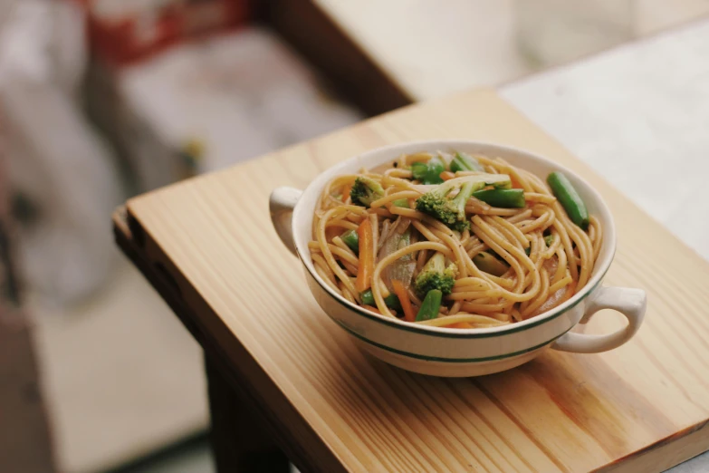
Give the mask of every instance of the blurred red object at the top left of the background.
<svg viewBox="0 0 709 473">
<path fill-rule="evenodd" d="M 248 23 L 250 0 L 73 0 L 87 14 L 91 51 L 114 66 Z"/>
</svg>

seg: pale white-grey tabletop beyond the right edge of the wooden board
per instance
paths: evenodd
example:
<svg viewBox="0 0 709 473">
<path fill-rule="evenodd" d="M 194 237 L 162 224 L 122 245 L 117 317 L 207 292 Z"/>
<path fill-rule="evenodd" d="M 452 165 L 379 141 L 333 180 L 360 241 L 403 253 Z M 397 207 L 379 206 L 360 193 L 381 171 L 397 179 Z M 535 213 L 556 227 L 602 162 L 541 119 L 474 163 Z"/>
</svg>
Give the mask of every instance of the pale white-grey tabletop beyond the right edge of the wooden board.
<svg viewBox="0 0 709 473">
<path fill-rule="evenodd" d="M 709 260 L 709 20 L 500 89 L 503 98 Z M 656 172 L 669 163 L 687 172 Z M 658 192 L 660 188 L 682 189 Z M 709 452 L 673 473 L 709 470 Z"/>
</svg>

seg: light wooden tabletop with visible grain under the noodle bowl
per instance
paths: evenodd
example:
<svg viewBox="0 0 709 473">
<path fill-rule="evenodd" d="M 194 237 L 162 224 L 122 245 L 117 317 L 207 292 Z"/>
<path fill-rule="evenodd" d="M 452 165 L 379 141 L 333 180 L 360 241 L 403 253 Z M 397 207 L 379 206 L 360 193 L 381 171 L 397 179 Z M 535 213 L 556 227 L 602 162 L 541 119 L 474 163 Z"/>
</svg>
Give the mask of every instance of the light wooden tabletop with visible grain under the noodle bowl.
<svg viewBox="0 0 709 473">
<path fill-rule="evenodd" d="M 271 227 L 268 195 L 303 188 L 359 152 L 436 138 L 523 147 L 598 188 L 618 224 L 607 284 L 648 293 L 637 337 L 612 352 L 548 352 L 461 380 L 402 372 L 359 352 L 312 299 Z M 300 468 L 660 471 L 709 449 L 709 265 L 494 92 L 388 113 L 134 198 L 128 210 L 142 257 L 171 281 L 203 345 L 248 382 Z M 588 331 L 618 326 L 615 315 Z M 298 451 L 307 454 L 293 458 Z"/>
</svg>

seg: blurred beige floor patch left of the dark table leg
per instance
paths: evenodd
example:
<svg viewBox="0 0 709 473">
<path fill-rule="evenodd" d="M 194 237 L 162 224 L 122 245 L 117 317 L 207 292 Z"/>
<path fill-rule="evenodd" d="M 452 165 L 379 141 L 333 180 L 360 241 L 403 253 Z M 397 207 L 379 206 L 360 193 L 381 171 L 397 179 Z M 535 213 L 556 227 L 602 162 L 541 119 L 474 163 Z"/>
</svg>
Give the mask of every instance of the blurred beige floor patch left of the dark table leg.
<svg viewBox="0 0 709 473">
<path fill-rule="evenodd" d="M 91 301 L 32 312 L 63 471 L 120 465 L 206 429 L 201 351 L 128 262 Z"/>
</svg>

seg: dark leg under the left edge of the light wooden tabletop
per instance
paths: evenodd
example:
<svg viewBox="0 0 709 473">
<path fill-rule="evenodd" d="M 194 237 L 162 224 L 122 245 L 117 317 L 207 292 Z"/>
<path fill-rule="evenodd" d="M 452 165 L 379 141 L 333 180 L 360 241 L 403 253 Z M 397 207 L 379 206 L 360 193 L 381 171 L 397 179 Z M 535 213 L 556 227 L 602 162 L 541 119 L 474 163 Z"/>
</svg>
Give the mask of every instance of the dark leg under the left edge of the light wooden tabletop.
<svg viewBox="0 0 709 473">
<path fill-rule="evenodd" d="M 216 366 L 205 359 L 212 418 L 210 440 L 218 473 L 286 473 L 288 458 L 254 418 L 251 401 L 245 401 Z"/>
</svg>

